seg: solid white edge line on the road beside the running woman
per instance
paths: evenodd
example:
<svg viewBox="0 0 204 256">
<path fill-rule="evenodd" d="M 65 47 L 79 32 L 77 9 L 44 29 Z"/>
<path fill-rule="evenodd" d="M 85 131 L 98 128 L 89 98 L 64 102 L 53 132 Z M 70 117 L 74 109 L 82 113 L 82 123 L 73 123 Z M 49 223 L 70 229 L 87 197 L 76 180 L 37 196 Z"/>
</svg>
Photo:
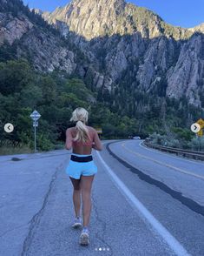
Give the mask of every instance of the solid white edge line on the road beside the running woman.
<svg viewBox="0 0 204 256">
<path fill-rule="evenodd" d="M 128 199 L 128 203 L 131 202 L 131 205 L 135 207 L 136 210 L 138 210 L 141 213 L 141 217 L 143 219 L 146 219 L 148 223 L 150 223 L 151 226 L 155 229 L 157 233 L 159 233 L 166 241 L 168 246 L 176 253 L 178 256 L 189 256 L 190 254 L 186 251 L 186 249 L 181 246 L 180 242 L 174 238 L 174 236 L 168 232 L 166 227 L 162 226 L 161 223 L 155 219 L 155 217 L 152 215 L 151 212 L 148 211 L 148 209 L 141 204 L 141 201 L 135 197 L 135 195 L 130 192 L 128 187 L 122 182 L 121 179 L 119 179 L 115 173 L 110 169 L 109 165 L 105 163 L 105 161 L 102 159 L 99 152 L 96 152 L 98 155 L 98 158 L 100 158 L 102 165 L 105 167 L 105 170 L 109 173 L 110 177 L 112 178 L 113 182 L 117 186 L 120 192 L 125 196 L 126 199 Z"/>
</svg>

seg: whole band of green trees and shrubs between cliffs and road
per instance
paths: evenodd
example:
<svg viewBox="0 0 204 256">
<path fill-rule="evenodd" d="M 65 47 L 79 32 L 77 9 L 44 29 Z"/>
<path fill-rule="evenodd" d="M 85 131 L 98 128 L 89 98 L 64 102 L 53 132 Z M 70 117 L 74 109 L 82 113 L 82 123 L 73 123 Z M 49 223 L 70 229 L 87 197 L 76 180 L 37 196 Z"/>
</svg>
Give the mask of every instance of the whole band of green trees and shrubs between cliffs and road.
<svg viewBox="0 0 204 256">
<path fill-rule="evenodd" d="M 202 111 L 188 105 L 185 98 L 176 101 L 145 94 L 129 88 L 128 81 L 120 84 L 114 94 L 95 91 L 90 81 L 57 71 L 37 72 L 27 60 L 6 60 L 8 52 L 0 53 L 0 129 L 3 131 L 6 123 L 15 126 L 12 133 L 0 134 L 0 154 L 33 151 L 30 113 L 35 109 L 42 115 L 37 127 L 37 149 L 63 148 L 65 131 L 74 125 L 69 122 L 71 112 L 78 106 L 89 111 L 88 125 L 102 128 L 103 139 L 146 138 L 153 134 L 155 143 L 161 145 L 197 148 L 188 127 L 202 117 Z"/>
</svg>

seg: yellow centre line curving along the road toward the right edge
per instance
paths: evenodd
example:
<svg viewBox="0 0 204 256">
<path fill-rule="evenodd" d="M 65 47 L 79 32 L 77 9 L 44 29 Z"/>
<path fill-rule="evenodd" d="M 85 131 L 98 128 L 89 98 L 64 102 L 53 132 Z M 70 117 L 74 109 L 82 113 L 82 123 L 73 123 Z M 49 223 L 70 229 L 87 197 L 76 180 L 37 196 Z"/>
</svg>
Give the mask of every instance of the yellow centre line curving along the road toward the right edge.
<svg viewBox="0 0 204 256">
<path fill-rule="evenodd" d="M 163 166 L 166 166 L 166 167 L 168 167 L 168 168 L 174 169 L 175 171 L 182 172 L 182 173 L 184 173 L 184 174 L 188 174 L 188 175 L 194 176 L 195 178 L 203 179 L 203 180 L 204 180 L 204 176 L 195 174 L 194 172 L 188 172 L 188 171 L 185 171 L 185 170 L 183 170 L 183 169 L 181 169 L 181 168 L 175 167 L 175 166 L 173 166 L 173 165 L 168 165 L 168 164 L 165 164 L 165 163 L 163 163 L 163 162 L 161 162 L 161 161 L 159 161 L 159 160 L 155 160 L 154 158 L 149 158 L 149 157 L 146 157 L 146 156 L 141 155 L 141 154 L 139 154 L 139 153 L 136 153 L 136 152 L 134 152 L 134 151 L 128 149 L 128 147 L 126 147 L 126 146 L 124 145 L 124 143 L 122 143 L 122 147 L 125 148 L 128 152 L 131 152 L 132 154 L 134 154 L 135 156 L 138 156 L 138 157 L 140 157 L 140 158 L 148 159 L 148 160 L 150 160 L 150 161 L 155 162 L 155 163 L 158 164 L 158 165 L 163 165 Z"/>
</svg>

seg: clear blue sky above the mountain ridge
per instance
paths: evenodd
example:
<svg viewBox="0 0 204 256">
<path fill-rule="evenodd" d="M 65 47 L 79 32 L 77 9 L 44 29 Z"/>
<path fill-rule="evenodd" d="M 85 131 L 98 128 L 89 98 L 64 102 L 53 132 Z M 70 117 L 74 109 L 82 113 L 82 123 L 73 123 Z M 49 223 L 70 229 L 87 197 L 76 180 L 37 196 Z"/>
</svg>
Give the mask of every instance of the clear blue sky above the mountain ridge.
<svg viewBox="0 0 204 256">
<path fill-rule="evenodd" d="M 23 0 L 30 8 L 55 10 L 69 0 Z M 148 8 L 158 14 L 168 24 L 191 28 L 204 23 L 204 0 L 128 0 L 137 6 Z"/>
</svg>

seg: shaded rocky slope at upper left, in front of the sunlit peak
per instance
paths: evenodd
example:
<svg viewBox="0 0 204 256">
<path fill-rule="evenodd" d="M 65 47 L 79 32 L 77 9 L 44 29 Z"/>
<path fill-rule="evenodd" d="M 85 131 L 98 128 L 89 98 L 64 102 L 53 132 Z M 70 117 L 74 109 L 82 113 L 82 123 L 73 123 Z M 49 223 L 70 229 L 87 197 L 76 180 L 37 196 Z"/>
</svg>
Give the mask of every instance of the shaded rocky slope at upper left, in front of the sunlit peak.
<svg viewBox="0 0 204 256">
<path fill-rule="evenodd" d="M 44 26 L 20 1 L 0 1 L 0 46 L 16 44 L 17 57 L 30 57 L 40 71 L 55 69 L 72 73 L 76 70 L 75 53 L 63 45 L 57 33 Z"/>
</svg>

